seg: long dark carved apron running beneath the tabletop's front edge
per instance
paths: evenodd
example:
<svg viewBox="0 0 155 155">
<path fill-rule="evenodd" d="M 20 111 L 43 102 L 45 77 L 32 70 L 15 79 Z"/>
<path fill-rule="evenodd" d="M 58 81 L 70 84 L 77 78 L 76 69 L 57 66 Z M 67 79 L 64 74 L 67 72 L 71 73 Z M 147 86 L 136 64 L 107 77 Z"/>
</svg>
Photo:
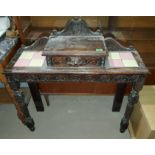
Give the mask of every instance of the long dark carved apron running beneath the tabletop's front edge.
<svg viewBox="0 0 155 155">
<path fill-rule="evenodd" d="M 7 74 L 8 81 L 15 82 L 115 82 L 135 83 L 144 74 Z"/>
</svg>

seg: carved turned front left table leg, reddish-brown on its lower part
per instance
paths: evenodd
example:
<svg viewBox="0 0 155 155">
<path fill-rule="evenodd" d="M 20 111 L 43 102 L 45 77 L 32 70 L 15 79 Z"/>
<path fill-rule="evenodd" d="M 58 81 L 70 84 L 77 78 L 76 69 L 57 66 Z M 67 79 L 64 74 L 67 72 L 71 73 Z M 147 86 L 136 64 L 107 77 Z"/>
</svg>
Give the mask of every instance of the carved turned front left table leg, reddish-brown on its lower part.
<svg viewBox="0 0 155 155">
<path fill-rule="evenodd" d="M 11 80 L 9 82 L 10 87 L 13 90 L 13 95 L 15 97 L 15 106 L 17 109 L 17 115 L 19 119 L 31 130 L 35 130 L 34 121 L 32 117 L 29 114 L 27 104 L 24 101 L 24 93 L 20 89 L 20 82 L 15 82 Z"/>
</svg>

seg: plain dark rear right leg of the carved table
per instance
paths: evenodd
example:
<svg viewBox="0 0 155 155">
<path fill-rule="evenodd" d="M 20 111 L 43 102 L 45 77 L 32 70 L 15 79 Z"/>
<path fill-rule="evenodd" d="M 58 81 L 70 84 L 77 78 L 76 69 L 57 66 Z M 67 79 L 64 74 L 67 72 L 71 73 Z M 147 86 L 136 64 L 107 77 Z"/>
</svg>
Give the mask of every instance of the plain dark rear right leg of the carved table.
<svg viewBox="0 0 155 155">
<path fill-rule="evenodd" d="M 116 90 L 116 94 L 113 102 L 112 111 L 120 111 L 125 89 L 126 89 L 126 83 L 117 84 L 117 90 Z"/>
</svg>

